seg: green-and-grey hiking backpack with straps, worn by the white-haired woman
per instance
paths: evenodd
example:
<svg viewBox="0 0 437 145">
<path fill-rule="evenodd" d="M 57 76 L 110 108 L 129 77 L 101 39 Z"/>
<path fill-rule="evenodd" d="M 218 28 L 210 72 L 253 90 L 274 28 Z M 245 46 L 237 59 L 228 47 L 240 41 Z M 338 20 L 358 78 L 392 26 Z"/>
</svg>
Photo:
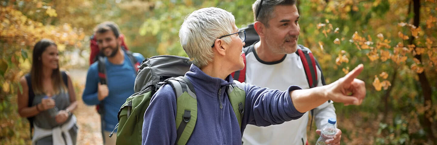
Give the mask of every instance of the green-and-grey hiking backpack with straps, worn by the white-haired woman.
<svg viewBox="0 0 437 145">
<path fill-rule="evenodd" d="M 141 145 L 142 123 L 150 99 L 163 85 L 171 84 L 177 96 L 177 145 L 185 145 L 197 120 L 197 96 L 193 84 L 184 77 L 190 70 L 187 57 L 160 55 L 142 61 L 135 78 L 135 93 L 126 99 L 118 111 L 117 145 Z M 226 87 L 228 98 L 241 128 L 246 92 L 239 81 Z M 171 109 L 171 108 L 169 108 Z M 114 128 L 114 130 L 115 130 Z M 112 136 L 112 133 L 109 137 Z"/>
</svg>

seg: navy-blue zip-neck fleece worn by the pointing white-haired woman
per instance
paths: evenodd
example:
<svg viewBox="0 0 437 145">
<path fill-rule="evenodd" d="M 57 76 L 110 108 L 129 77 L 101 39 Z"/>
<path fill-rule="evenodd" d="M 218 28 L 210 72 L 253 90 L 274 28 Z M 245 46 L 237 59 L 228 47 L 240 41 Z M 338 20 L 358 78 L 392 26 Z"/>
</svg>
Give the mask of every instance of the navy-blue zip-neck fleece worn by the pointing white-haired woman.
<svg viewBox="0 0 437 145">
<path fill-rule="evenodd" d="M 289 93 L 301 89 L 298 86 L 279 91 L 243 83 L 246 102 L 240 130 L 227 93 L 220 93 L 221 100 L 218 97 L 218 90 L 225 92 L 226 86 L 232 83 L 231 75 L 226 80 L 212 78 L 191 65 L 185 77 L 194 85 L 198 101 L 196 126 L 187 145 L 241 145 L 241 135 L 248 124 L 276 125 L 303 115 L 294 107 Z M 176 109 L 176 94 L 170 84 L 165 84 L 152 96 L 144 115 L 142 145 L 175 144 Z"/>
</svg>

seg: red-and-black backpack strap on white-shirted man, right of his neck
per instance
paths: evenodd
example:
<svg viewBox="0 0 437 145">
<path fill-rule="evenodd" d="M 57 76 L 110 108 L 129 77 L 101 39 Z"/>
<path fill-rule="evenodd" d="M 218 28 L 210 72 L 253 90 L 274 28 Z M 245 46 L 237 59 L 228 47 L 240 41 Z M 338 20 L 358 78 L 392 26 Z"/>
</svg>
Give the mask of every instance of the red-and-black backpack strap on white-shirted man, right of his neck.
<svg viewBox="0 0 437 145">
<path fill-rule="evenodd" d="M 305 69 L 306 78 L 309 84 L 309 88 L 314 88 L 317 86 L 317 69 L 316 60 L 308 48 L 298 45 L 298 50 L 296 54 L 301 58 L 303 67 Z"/>
</svg>

